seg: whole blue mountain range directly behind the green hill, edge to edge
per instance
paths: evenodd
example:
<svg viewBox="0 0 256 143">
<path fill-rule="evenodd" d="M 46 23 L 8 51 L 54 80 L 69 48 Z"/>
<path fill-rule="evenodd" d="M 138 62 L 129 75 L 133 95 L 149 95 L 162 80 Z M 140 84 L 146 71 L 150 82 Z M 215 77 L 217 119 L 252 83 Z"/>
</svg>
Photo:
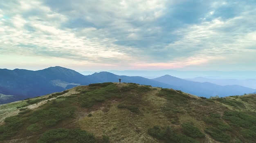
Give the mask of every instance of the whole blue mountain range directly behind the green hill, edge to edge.
<svg viewBox="0 0 256 143">
<path fill-rule="evenodd" d="M 0 69 L 0 104 L 60 92 L 78 85 L 119 82 L 119 78 L 122 82 L 172 88 L 207 98 L 216 95 L 223 97 L 256 92 L 256 89 L 238 85 L 221 86 L 209 82 L 193 82 L 170 75 L 148 79 L 140 76 L 118 76 L 110 72 L 99 72 L 84 76 L 72 69 L 56 66 L 38 71 Z"/>
</svg>

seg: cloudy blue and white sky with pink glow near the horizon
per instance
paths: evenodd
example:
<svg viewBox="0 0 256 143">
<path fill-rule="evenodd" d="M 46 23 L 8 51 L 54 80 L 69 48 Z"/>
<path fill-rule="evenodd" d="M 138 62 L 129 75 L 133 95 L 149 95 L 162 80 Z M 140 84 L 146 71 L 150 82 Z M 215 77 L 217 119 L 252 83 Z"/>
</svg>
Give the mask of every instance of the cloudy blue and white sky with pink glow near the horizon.
<svg viewBox="0 0 256 143">
<path fill-rule="evenodd" d="M 256 71 L 255 0 L 1 0 L 0 68 Z"/>
</svg>

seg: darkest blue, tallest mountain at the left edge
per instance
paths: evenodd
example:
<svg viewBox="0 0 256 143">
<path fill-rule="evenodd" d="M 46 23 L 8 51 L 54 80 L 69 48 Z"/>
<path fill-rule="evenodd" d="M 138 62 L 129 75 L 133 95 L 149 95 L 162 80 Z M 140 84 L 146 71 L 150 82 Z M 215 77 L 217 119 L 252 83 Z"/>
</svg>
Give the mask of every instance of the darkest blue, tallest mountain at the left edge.
<svg viewBox="0 0 256 143">
<path fill-rule="evenodd" d="M 0 69 L 0 93 L 13 95 L 16 101 L 91 82 L 86 76 L 64 67 L 49 67 L 39 71 Z"/>
</svg>

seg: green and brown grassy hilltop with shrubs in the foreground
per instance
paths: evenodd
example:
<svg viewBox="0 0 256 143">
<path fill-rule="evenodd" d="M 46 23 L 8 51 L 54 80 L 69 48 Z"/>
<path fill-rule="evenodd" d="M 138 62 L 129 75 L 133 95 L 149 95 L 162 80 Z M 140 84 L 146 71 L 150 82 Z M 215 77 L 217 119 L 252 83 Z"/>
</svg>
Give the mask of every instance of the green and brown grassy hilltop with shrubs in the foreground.
<svg viewBox="0 0 256 143">
<path fill-rule="evenodd" d="M 255 143 L 256 95 L 98 83 L 0 105 L 0 143 Z"/>
</svg>

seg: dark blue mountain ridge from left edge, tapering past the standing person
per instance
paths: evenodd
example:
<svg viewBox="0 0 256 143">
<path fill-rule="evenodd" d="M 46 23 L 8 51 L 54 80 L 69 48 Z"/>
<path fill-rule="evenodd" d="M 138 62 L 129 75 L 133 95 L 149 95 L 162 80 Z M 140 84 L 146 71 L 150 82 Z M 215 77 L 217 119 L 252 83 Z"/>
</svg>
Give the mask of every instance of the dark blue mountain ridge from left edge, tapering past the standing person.
<svg viewBox="0 0 256 143">
<path fill-rule="evenodd" d="M 25 69 L 0 69 L 0 104 L 33 98 L 53 92 L 60 92 L 78 85 L 89 85 L 91 83 L 134 82 L 142 85 L 155 87 L 177 88 L 148 78 L 139 76 L 118 76 L 109 72 L 99 72 L 84 76 L 72 69 L 64 67 L 49 67 L 47 69 L 30 71 Z M 9 96 L 7 96 L 9 95 Z"/>
</svg>

